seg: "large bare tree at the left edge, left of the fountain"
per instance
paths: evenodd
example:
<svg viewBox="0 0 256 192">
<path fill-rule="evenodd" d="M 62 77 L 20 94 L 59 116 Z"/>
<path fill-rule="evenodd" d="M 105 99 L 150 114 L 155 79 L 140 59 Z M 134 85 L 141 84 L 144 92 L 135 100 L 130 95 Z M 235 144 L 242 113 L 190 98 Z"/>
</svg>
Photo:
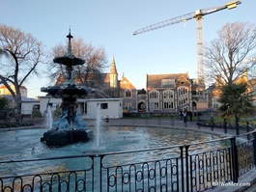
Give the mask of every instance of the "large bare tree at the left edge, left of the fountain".
<svg viewBox="0 0 256 192">
<path fill-rule="evenodd" d="M 18 28 L 0 25 L 0 56 L 0 83 L 13 96 L 20 114 L 20 87 L 29 76 L 38 74 L 37 67 L 44 62 L 43 44 Z"/>
</svg>

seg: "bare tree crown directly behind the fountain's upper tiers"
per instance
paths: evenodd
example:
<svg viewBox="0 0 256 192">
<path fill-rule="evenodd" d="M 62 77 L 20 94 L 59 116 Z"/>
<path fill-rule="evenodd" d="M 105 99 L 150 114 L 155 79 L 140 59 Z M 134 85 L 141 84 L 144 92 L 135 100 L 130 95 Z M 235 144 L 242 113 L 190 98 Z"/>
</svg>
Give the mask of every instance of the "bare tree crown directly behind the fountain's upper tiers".
<svg viewBox="0 0 256 192">
<path fill-rule="evenodd" d="M 106 53 L 103 47 L 96 48 L 92 44 L 85 43 L 82 39 L 72 40 L 72 55 L 84 59 L 86 62 L 83 66 L 75 66 L 73 75 L 75 79 L 82 85 L 95 87 L 96 83 L 102 81 L 100 73 L 107 66 Z M 58 44 L 52 49 L 55 57 L 67 54 L 67 45 Z M 64 73 L 61 65 L 50 65 L 50 78 L 57 79 L 60 74 Z M 58 79 L 62 81 L 63 79 Z"/>
</svg>

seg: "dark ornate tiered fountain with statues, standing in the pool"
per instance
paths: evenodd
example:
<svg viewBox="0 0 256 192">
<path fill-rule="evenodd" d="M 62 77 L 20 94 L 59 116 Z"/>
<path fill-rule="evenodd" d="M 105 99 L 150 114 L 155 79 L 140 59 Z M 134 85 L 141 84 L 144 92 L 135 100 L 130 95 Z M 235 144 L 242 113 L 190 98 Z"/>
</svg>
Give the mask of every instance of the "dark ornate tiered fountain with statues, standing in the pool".
<svg viewBox="0 0 256 192">
<path fill-rule="evenodd" d="M 42 92 L 55 98 L 62 98 L 62 114 L 59 120 L 52 123 L 52 127 L 43 133 L 41 141 L 48 147 L 62 147 L 73 143 L 86 142 L 93 135 L 91 130 L 86 128 L 86 123 L 76 113 L 77 98 L 84 98 L 92 91 L 84 86 L 77 85 L 72 77 L 74 66 L 83 65 L 85 60 L 76 58 L 71 51 L 71 30 L 67 36 L 69 39 L 68 52 L 63 57 L 57 57 L 54 63 L 66 66 L 64 82 L 61 85 L 41 88 Z"/>
</svg>

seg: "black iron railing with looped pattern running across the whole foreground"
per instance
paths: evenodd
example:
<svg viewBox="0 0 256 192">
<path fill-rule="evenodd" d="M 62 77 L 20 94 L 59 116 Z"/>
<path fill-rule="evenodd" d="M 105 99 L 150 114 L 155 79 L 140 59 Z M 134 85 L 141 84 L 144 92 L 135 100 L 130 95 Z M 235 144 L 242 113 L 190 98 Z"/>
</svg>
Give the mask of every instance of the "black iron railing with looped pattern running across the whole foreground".
<svg viewBox="0 0 256 192">
<path fill-rule="evenodd" d="M 256 132 L 143 151 L 0 162 L 0 191 L 204 191 L 255 168 Z M 221 145 L 215 145 L 221 143 Z M 212 145 L 212 150 L 202 146 Z M 222 145 L 223 144 L 223 145 Z M 16 173 L 18 167 L 23 174 Z M 26 170 L 26 168 L 29 168 Z"/>
</svg>

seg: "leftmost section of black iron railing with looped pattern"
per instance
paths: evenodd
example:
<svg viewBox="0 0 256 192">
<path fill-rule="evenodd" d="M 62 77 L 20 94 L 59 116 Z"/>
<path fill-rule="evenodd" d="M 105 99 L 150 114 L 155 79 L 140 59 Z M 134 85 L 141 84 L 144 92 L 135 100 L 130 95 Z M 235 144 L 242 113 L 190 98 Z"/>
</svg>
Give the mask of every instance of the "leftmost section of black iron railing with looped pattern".
<svg viewBox="0 0 256 192">
<path fill-rule="evenodd" d="M 93 156 L 62 156 L 0 162 L 0 191 L 94 191 L 93 160 Z M 19 175 L 18 167 L 29 173 Z"/>
</svg>

